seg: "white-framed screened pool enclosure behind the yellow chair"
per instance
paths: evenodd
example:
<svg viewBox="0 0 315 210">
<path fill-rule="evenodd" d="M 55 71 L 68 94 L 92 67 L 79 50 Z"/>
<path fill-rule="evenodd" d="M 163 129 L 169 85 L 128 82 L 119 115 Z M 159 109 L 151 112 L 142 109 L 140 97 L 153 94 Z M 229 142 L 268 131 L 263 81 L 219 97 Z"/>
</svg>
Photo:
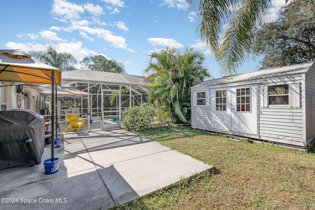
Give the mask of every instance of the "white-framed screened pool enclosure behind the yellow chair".
<svg viewBox="0 0 315 210">
<path fill-rule="evenodd" d="M 143 76 L 81 69 L 63 72 L 62 78 L 62 85 L 88 92 L 87 97 L 75 99 L 75 106 L 88 119 L 89 130 L 93 120 L 102 122 L 102 130 L 118 128 L 124 111 L 147 102 Z"/>
</svg>

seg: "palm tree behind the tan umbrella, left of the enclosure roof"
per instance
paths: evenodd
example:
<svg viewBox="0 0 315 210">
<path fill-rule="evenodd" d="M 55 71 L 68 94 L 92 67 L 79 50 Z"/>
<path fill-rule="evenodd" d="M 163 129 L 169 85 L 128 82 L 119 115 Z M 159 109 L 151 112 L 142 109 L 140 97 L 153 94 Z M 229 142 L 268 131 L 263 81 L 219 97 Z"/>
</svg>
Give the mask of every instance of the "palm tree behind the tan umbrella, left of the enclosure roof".
<svg viewBox="0 0 315 210">
<path fill-rule="evenodd" d="M 40 62 L 62 69 L 63 71 L 75 70 L 77 60 L 69 53 L 58 53 L 52 46 L 46 52 L 31 51 L 30 55 Z"/>
</svg>

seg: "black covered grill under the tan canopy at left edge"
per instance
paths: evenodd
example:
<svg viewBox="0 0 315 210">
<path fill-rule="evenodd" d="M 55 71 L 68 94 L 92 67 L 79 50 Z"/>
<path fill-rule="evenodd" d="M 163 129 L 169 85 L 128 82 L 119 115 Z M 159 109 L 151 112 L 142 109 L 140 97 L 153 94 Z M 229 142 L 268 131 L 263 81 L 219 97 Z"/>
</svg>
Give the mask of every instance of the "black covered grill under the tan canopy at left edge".
<svg viewBox="0 0 315 210">
<path fill-rule="evenodd" d="M 0 169 L 41 163 L 45 120 L 33 110 L 0 111 Z"/>
</svg>

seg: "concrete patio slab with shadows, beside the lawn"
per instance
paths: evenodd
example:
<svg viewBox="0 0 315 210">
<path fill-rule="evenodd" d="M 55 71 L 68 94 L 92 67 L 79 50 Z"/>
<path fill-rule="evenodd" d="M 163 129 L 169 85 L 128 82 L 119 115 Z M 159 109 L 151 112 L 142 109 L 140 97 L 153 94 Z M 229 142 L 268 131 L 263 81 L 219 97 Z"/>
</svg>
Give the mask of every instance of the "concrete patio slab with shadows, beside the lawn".
<svg viewBox="0 0 315 210">
<path fill-rule="evenodd" d="M 124 129 L 64 135 L 45 175 L 50 157 L 49 146 L 40 165 L 0 170 L 0 209 L 104 210 L 213 167 Z"/>
</svg>

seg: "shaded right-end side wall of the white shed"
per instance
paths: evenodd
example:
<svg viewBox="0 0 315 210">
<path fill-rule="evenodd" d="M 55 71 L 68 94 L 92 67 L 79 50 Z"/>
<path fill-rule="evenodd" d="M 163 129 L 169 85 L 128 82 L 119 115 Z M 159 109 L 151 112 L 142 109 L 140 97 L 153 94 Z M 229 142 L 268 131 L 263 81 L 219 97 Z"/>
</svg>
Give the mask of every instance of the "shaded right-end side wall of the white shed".
<svg viewBox="0 0 315 210">
<path fill-rule="evenodd" d="M 315 138 L 315 68 L 306 72 L 305 77 L 305 139 L 308 145 Z"/>
</svg>

